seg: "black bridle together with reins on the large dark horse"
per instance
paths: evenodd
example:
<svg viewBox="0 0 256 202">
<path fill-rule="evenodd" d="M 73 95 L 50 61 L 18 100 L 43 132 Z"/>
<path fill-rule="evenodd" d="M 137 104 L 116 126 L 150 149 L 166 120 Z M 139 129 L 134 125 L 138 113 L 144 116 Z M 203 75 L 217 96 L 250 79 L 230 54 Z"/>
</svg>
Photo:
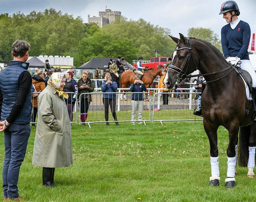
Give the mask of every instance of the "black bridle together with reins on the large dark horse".
<svg viewBox="0 0 256 202">
<path fill-rule="evenodd" d="M 186 37 L 185 37 L 186 38 Z M 182 69 L 170 64 L 167 68 L 170 69 L 170 70 L 173 70 L 175 72 L 178 72 L 178 76 L 177 76 L 177 81 L 176 81 L 176 85 L 177 86 L 180 86 L 180 82 L 186 78 L 192 78 L 192 77 L 197 77 L 197 76 L 204 76 L 204 75 L 210 75 L 210 74 L 217 74 L 217 73 L 221 73 L 221 72 L 225 72 L 226 70 L 232 68 L 228 73 L 226 73 L 226 75 L 228 75 L 234 68 L 234 64 L 228 66 L 227 68 L 223 69 L 223 70 L 219 70 L 217 72 L 212 72 L 212 73 L 206 73 L 206 74 L 196 74 L 196 75 L 187 75 L 187 70 L 188 70 L 188 66 L 189 66 L 189 62 L 190 62 L 190 58 L 192 57 L 193 59 L 193 62 L 195 64 L 195 67 L 196 69 L 198 69 L 196 63 L 195 63 L 195 59 L 193 58 L 193 55 L 192 55 L 192 42 L 191 42 L 191 39 L 189 38 L 186 38 L 189 42 L 189 47 L 182 47 L 182 48 L 177 48 L 177 49 L 174 49 L 174 51 L 179 51 L 179 50 L 183 50 L 183 49 L 188 49 L 188 53 L 187 53 L 187 57 L 186 57 L 186 61 L 182 67 Z M 219 78 L 219 79 L 222 79 L 224 78 L 226 75 L 224 75 L 223 77 Z M 212 81 L 207 81 L 206 83 L 210 83 L 210 82 L 213 82 L 213 81 L 218 81 L 219 79 L 215 79 L 215 80 L 212 80 Z M 197 85 L 197 84 L 196 84 Z M 194 86 L 194 84 L 192 84 L 191 86 Z"/>
</svg>

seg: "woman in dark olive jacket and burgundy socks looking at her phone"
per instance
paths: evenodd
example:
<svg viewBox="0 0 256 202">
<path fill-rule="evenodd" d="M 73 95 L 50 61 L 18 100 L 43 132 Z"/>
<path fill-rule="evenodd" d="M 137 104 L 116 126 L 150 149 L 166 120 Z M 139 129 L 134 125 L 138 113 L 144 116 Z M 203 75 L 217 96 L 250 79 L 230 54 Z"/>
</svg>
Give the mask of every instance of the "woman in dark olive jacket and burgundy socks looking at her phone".
<svg viewBox="0 0 256 202">
<path fill-rule="evenodd" d="M 82 124 L 85 123 L 87 119 L 87 112 L 92 101 L 91 94 L 83 94 L 82 93 L 90 93 L 94 91 L 93 81 L 88 78 L 88 74 L 86 71 L 82 72 L 82 78 L 78 81 L 78 96 L 80 100 L 80 119 Z"/>
</svg>

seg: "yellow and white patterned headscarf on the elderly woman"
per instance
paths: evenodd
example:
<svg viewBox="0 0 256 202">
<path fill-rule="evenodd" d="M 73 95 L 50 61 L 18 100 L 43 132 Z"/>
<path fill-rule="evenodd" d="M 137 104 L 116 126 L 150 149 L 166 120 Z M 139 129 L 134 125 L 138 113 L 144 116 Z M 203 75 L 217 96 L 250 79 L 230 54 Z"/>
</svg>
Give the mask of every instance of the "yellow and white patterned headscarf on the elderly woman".
<svg viewBox="0 0 256 202">
<path fill-rule="evenodd" d="M 65 93 L 64 91 L 60 90 L 59 86 L 61 83 L 61 80 L 65 77 L 65 73 L 63 72 L 54 72 L 51 76 L 50 79 L 48 80 L 47 84 L 54 88 L 58 93 L 59 97 L 64 96 L 66 99 L 69 98 L 69 95 Z"/>
</svg>

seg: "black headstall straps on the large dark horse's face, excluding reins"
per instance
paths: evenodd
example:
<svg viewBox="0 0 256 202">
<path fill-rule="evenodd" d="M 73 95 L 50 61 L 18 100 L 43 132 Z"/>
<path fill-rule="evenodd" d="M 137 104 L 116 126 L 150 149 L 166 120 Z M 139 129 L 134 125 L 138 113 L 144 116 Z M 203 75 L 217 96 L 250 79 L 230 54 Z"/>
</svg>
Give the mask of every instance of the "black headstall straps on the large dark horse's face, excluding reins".
<svg viewBox="0 0 256 202">
<path fill-rule="evenodd" d="M 182 69 L 174 66 L 174 65 L 169 65 L 168 69 L 171 69 L 175 72 L 178 72 L 179 75 L 177 76 L 177 85 L 184 79 L 186 79 L 187 77 L 187 69 L 188 69 L 188 66 L 189 66 L 189 61 L 190 61 L 190 58 L 191 58 L 191 55 L 192 55 L 192 42 L 189 38 L 186 38 L 189 42 L 189 47 L 182 47 L 182 48 L 177 48 L 177 49 L 174 49 L 174 51 L 178 51 L 178 50 L 183 50 L 183 49 L 188 49 L 188 53 L 187 53 L 187 57 L 186 57 L 186 61 L 182 67 Z"/>
</svg>

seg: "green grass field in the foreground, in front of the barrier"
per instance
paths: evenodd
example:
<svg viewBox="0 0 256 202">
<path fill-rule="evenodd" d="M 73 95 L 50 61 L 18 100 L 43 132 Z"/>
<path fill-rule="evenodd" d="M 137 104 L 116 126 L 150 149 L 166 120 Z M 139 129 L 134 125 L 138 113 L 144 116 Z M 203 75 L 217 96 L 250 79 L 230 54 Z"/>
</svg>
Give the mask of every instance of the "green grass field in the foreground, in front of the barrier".
<svg viewBox="0 0 256 202">
<path fill-rule="evenodd" d="M 255 179 L 237 167 L 236 183 L 224 187 L 228 132 L 220 127 L 219 187 L 210 187 L 210 147 L 202 121 L 119 127 L 72 124 L 74 164 L 56 168 L 58 186 L 42 185 L 42 168 L 32 165 L 36 127 L 20 169 L 19 193 L 32 202 L 237 202 L 255 201 Z M 1 159 L 4 140 L 0 139 Z M 1 168 L 2 169 L 2 165 Z M 2 179 L 1 179 L 2 183 Z"/>
</svg>

